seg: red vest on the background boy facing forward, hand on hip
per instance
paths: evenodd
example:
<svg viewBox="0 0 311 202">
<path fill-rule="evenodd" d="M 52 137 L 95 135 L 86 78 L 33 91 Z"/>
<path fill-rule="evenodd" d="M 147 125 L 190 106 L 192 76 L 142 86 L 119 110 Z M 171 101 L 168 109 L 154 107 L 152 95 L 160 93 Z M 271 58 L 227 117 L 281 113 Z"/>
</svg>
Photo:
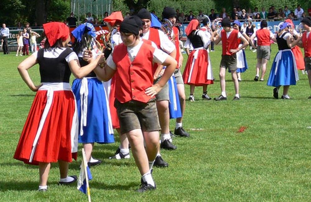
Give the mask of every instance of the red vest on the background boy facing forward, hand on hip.
<svg viewBox="0 0 311 202">
<path fill-rule="evenodd" d="M 232 30 L 229 38 L 227 39 L 227 35 L 225 30 L 221 30 L 221 42 L 222 42 L 222 55 L 234 55 L 235 53 L 231 53 L 230 49 L 238 49 L 238 30 Z"/>
</svg>

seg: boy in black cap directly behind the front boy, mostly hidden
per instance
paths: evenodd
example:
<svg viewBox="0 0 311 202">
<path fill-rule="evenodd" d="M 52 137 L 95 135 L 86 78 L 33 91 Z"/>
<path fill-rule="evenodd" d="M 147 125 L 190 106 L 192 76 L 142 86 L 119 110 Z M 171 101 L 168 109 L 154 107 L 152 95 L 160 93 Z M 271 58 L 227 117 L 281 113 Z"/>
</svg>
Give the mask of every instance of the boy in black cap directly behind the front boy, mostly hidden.
<svg viewBox="0 0 311 202">
<path fill-rule="evenodd" d="M 164 32 L 151 28 L 151 14 L 145 8 L 138 11 L 137 16 L 142 19 L 142 39 L 148 39 L 153 41 L 157 47 L 164 52 L 168 53 L 171 57 L 176 57 L 175 45 L 169 40 Z M 156 68 L 156 67 L 155 67 Z M 155 82 L 161 79 L 161 76 L 155 75 Z M 169 134 L 169 89 L 168 84 L 165 84 L 164 88 L 156 95 L 156 105 L 158 109 L 159 121 L 161 126 L 161 140 L 169 140 L 171 138 Z M 170 141 L 166 141 L 168 148 L 175 147 Z M 157 167 L 168 167 L 168 163 L 163 160 L 160 155 L 160 150 L 157 154 L 155 163 Z"/>
</svg>

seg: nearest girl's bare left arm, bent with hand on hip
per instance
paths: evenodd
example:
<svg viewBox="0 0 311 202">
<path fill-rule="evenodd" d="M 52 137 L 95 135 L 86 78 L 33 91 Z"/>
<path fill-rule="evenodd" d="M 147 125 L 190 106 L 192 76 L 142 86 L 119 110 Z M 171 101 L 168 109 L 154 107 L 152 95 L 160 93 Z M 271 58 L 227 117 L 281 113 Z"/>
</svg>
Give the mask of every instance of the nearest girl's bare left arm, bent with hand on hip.
<svg viewBox="0 0 311 202">
<path fill-rule="evenodd" d="M 41 85 L 35 85 L 32 80 L 30 79 L 28 69 L 33 67 L 35 64 L 37 64 L 37 58 L 34 55 L 30 55 L 27 57 L 23 62 L 21 62 L 17 69 L 21 75 L 21 78 L 24 80 L 24 82 L 27 84 L 27 86 L 30 88 L 32 91 L 37 91 Z"/>
</svg>

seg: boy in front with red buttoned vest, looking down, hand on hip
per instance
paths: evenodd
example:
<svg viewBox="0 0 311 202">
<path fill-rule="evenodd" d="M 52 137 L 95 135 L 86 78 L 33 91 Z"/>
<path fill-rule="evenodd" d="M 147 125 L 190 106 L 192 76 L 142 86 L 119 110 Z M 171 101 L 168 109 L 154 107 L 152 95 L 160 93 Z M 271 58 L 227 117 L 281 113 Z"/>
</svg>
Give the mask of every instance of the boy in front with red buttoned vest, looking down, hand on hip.
<svg viewBox="0 0 311 202">
<path fill-rule="evenodd" d="M 139 26 L 133 17 L 120 26 L 123 43 L 114 48 L 103 69 L 96 75 L 104 80 L 116 76 L 115 107 L 121 133 L 126 134 L 142 175 L 139 192 L 154 190 L 151 168 L 159 149 L 159 119 L 155 95 L 173 74 L 177 62 L 168 54 L 139 39 Z M 166 66 L 161 80 L 153 85 L 153 63 Z M 144 140 L 146 149 L 144 148 Z M 148 163 L 149 162 L 149 163 Z"/>
</svg>

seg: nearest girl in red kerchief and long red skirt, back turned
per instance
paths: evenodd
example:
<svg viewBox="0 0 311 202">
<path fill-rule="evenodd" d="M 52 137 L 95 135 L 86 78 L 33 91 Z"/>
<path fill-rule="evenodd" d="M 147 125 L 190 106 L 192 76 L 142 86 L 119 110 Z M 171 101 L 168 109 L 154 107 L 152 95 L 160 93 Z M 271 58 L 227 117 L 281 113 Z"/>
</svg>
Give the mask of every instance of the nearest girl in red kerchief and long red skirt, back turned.
<svg viewBox="0 0 311 202">
<path fill-rule="evenodd" d="M 69 28 L 60 22 L 43 25 L 46 35 L 44 49 L 21 62 L 18 71 L 30 90 L 38 91 L 30 108 L 14 158 L 39 165 L 39 191 L 47 190 L 51 162 L 58 162 L 59 184 L 70 184 L 77 176 L 68 177 L 68 163 L 77 159 L 78 119 L 76 101 L 69 85 L 71 72 L 77 78 L 90 73 L 104 62 L 100 55 L 80 67 L 77 54 L 66 48 Z M 41 84 L 34 85 L 28 69 L 39 63 Z"/>
</svg>

